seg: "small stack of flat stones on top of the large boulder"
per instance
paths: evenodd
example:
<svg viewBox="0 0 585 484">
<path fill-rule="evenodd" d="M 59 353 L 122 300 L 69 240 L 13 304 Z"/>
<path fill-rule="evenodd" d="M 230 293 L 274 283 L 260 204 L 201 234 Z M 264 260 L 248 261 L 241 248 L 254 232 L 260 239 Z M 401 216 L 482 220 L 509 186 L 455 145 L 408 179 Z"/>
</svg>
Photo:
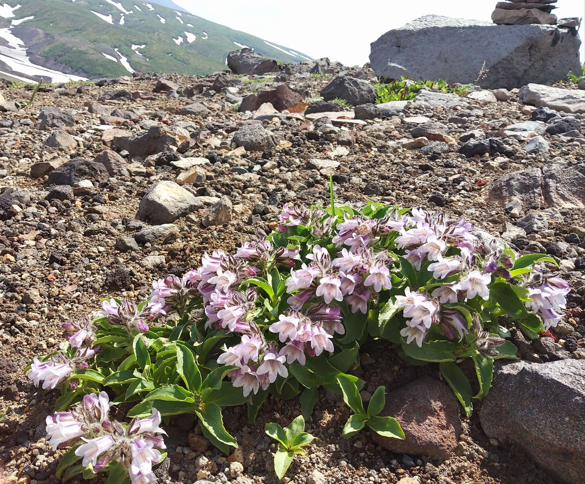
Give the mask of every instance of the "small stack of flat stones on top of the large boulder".
<svg viewBox="0 0 585 484">
<path fill-rule="evenodd" d="M 510 0 L 498 2 L 491 14 L 491 20 L 498 25 L 526 25 L 538 23 L 541 25 L 556 25 L 556 15 L 553 9 L 557 0 Z"/>
</svg>

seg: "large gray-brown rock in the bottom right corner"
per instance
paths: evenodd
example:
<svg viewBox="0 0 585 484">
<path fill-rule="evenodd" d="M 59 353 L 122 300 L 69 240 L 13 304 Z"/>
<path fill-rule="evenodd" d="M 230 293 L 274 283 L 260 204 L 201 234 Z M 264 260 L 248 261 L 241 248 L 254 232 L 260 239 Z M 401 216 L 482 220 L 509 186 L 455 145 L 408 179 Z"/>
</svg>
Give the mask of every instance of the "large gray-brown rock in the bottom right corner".
<svg viewBox="0 0 585 484">
<path fill-rule="evenodd" d="M 585 476 L 585 360 L 497 365 L 479 413 L 488 437 L 511 442 L 560 480 Z"/>
</svg>

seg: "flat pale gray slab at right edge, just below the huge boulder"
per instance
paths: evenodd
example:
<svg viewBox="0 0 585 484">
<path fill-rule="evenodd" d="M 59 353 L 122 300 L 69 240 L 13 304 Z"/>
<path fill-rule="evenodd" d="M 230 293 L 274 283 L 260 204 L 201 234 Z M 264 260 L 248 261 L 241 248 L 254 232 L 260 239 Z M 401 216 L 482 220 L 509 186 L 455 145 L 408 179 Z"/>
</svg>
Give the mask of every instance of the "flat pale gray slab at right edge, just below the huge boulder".
<svg viewBox="0 0 585 484">
<path fill-rule="evenodd" d="M 585 113 L 585 92 L 581 89 L 560 89 L 530 83 L 519 89 L 518 97 L 532 106 L 544 106 L 573 114 Z"/>
</svg>

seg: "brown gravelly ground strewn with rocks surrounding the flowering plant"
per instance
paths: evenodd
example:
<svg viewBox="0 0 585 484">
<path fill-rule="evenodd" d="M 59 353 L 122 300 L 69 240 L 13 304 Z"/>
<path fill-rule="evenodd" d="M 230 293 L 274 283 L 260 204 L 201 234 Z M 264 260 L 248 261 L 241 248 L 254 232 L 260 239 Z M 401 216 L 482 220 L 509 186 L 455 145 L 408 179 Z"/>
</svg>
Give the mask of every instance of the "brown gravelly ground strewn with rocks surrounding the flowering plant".
<svg viewBox="0 0 585 484">
<path fill-rule="evenodd" d="M 57 344 L 64 320 L 97 309 L 106 295 L 146 298 L 153 278 L 181 274 L 204 251 L 233 251 L 256 227 L 276 226 L 285 202 L 328 203 L 331 172 L 336 203 L 360 205 L 367 197 L 464 217 L 519 253 L 555 257 L 572 291 L 567 317 L 553 331 L 527 341 L 510 328 L 521 361 L 498 369 L 503 376 L 495 376 L 483 408 L 474 406 L 469 420 L 436 364 L 411 367 L 380 341 L 363 345 L 355 369 L 366 381 L 362 397 L 367 402 L 377 385 L 386 385 L 393 406 L 387 410 L 404 416 L 409 438 L 400 448 L 367 433 L 343 440 L 347 409 L 336 395 L 322 393 L 307 421 L 319 440 L 295 458 L 286 482 L 579 482 L 581 461 L 562 456 L 579 452 L 585 441 L 577 424 L 585 378 L 579 106 L 585 93 L 529 85 L 522 93 L 484 90 L 467 98 L 422 91 L 414 101 L 346 110 L 328 101 L 297 102 L 299 93 L 315 98 L 323 91 L 370 100 L 371 85 L 352 77 L 367 72 L 346 72 L 349 78 L 341 80 L 227 73 L 122 77 L 101 87 L 43 89 L 20 110 L 13 102 L 30 91 L 4 92 L 5 482 L 58 482 L 54 472 L 63 451 L 53 452 L 44 440 L 44 418 L 57 395 L 34 388 L 23 368 Z M 250 96 L 257 101 L 259 94 L 270 103 L 238 111 L 238 103 Z M 546 107 L 553 103 L 555 109 Z M 300 112 L 279 112 L 274 105 Z M 473 367 L 463 369 L 472 376 Z M 541 387 L 546 392 L 534 392 Z M 174 417 L 166 426 L 169 455 L 156 471 L 159 482 L 276 483 L 276 448 L 263 434 L 264 423 L 285 425 L 299 413 L 298 399 L 269 399 L 250 425 L 244 407 L 229 407 L 224 421 L 240 449 L 228 458 L 209 445 L 192 416 Z M 518 428 L 521 441 L 519 432 L 507 430 Z M 546 438 L 539 434 L 543 428 Z"/>
</svg>

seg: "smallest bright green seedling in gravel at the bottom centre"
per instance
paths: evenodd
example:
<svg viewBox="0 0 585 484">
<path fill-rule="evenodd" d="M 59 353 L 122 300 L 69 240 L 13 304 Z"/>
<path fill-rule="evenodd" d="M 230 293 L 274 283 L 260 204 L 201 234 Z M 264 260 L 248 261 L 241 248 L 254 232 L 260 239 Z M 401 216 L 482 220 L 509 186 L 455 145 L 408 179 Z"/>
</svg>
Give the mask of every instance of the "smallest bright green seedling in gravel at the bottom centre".
<svg viewBox="0 0 585 484">
<path fill-rule="evenodd" d="M 302 418 L 302 415 L 288 424 L 287 430 L 272 422 L 264 426 L 264 431 L 269 437 L 279 442 L 278 450 L 274 454 L 274 471 L 278 480 L 284 477 L 294 455 L 307 454 L 307 451 L 302 447 L 309 445 L 316 438 L 305 432 L 305 419 Z"/>
</svg>

